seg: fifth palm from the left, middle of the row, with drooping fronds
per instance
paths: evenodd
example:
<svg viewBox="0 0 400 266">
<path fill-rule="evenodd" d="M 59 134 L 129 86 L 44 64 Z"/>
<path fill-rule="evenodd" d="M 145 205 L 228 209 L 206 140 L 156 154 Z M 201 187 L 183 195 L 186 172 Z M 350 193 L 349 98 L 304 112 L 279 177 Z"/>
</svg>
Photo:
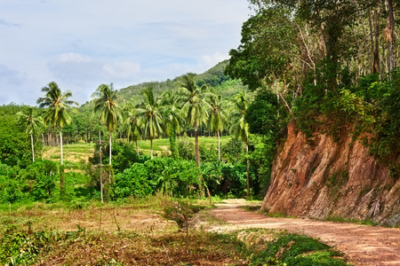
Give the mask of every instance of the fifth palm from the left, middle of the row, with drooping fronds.
<svg viewBox="0 0 400 266">
<path fill-rule="evenodd" d="M 138 108 L 138 117 L 144 136 L 150 140 L 151 159 L 153 159 L 153 139 L 160 137 L 164 132 L 163 116 L 158 110 L 158 103 L 153 88 L 142 91 L 143 101 Z"/>
</svg>

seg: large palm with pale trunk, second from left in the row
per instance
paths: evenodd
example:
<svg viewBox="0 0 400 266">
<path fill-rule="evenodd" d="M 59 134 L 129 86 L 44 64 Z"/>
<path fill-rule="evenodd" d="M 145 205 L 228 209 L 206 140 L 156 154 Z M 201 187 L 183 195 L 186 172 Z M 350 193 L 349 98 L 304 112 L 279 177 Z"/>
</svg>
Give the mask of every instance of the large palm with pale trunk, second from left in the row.
<svg viewBox="0 0 400 266">
<path fill-rule="evenodd" d="M 44 98 L 38 98 L 37 104 L 39 104 L 40 108 L 47 107 L 47 111 L 44 114 L 44 123 L 52 125 L 54 129 L 59 128 L 61 165 L 63 165 L 61 129 L 72 121 L 67 109 L 71 105 L 78 106 L 78 104 L 68 100 L 68 98 L 72 97 L 72 93 L 70 91 L 62 93 L 56 82 L 50 82 L 46 87 L 42 88 L 42 91 L 45 93 Z"/>
</svg>

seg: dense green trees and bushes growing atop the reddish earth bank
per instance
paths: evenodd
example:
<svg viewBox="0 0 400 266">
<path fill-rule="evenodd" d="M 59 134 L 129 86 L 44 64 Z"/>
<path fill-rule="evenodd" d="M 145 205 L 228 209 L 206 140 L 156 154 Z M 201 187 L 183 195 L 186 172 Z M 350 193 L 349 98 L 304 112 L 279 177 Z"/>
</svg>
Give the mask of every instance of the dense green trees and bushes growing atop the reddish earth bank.
<svg viewBox="0 0 400 266">
<path fill-rule="evenodd" d="M 321 127 L 336 140 L 353 132 L 398 172 L 399 3 L 249 2 L 256 13 L 226 73 L 260 90 L 246 116 L 252 132 L 274 140 L 286 117 L 310 144 Z"/>
</svg>

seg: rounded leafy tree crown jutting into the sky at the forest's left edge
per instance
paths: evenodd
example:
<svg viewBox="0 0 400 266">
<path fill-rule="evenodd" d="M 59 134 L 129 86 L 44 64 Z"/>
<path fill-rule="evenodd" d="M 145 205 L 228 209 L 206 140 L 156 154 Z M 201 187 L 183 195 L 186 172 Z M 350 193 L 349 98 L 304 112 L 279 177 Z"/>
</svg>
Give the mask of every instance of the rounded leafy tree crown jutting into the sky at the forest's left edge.
<svg viewBox="0 0 400 266">
<path fill-rule="evenodd" d="M 229 51 L 225 73 L 250 90 L 283 79 L 298 55 L 297 27 L 289 10 L 266 9 L 244 22 L 241 44 Z"/>
</svg>

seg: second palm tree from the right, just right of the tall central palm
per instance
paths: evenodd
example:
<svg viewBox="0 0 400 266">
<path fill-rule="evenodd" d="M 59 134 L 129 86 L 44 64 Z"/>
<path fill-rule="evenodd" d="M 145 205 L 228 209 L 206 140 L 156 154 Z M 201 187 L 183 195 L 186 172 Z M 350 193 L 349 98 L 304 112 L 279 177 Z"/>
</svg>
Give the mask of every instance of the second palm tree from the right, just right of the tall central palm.
<svg viewBox="0 0 400 266">
<path fill-rule="evenodd" d="M 217 133 L 218 137 L 218 160 L 220 160 L 220 132 L 223 131 L 224 126 L 228 123 L 227 113 L 224 109 L 224 102 L 220 95 L 212 95 L 210 97 L 211 106 L 211 120 L 210 128 L 212 132 Z"/>
</svg>

